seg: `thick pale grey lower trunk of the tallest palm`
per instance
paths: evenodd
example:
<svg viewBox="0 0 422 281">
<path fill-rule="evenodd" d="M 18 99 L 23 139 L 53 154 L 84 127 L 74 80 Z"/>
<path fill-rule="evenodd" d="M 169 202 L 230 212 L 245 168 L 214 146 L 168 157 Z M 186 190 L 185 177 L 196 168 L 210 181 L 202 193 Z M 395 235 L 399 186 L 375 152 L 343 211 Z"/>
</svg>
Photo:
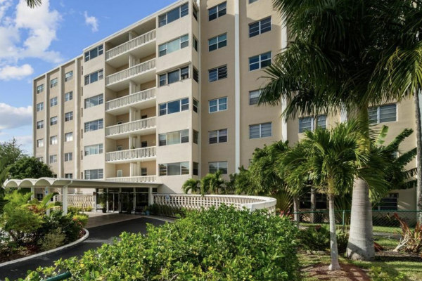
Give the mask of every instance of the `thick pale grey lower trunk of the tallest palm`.
<svg viewBox="0 0 422 281">
<path fill-rule="evenodd" d="M 347 256 L 350 259 L 365 261 L 371 261 L 375 256 L 369 185 L 362 178 L 355 178 L 353 185 Z"/>
</svg>

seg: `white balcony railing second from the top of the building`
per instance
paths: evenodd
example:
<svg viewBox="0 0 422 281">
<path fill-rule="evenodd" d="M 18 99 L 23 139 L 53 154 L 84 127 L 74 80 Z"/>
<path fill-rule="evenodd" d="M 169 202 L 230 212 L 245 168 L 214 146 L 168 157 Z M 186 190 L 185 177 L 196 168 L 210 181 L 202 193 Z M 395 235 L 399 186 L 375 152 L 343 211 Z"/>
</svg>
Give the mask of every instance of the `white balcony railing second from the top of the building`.
<svg viewBox="0 0 422 281">
<path fill-rule="evenodd" d="M 108 75 L 106 86 L 113 91 L 120 91 L 129 88 L 130 80 L 136 84 L 142 84 L 153 79 L 155 79 L 155 58 Z"/>
</svg>

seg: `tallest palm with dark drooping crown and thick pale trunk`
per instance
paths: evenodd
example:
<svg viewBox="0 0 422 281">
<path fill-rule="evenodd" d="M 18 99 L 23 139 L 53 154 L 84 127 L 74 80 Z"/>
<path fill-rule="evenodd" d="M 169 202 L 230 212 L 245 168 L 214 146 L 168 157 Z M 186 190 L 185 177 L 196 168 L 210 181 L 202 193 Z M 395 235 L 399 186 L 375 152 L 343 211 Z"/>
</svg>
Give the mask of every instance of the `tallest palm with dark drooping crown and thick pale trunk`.
<svg viewBox="0 0 422 281">
<path fill-rule="evenodd" d="M 398 1 L 398 0 L 397 0 Z M 267 84 L 259 104 L 286 100 L 286 119 L 317 116 L 345 108 L 362 124 L 368 107 L 399 98 L 397 93 L 369 93 L 380 51 L 390 33 L 373 32 L 381 25 L 378 13 L 383 0 L 274 0 L 294 41 L 265 70 Z M 369 151 L 369 125 L 362 126 L 362 152 Z M 364 167 L 362 167 L 364 168 Z M 349 256 L 373 259 L 372 211 L 369 184 L 355 178 Z"/>
</svg>

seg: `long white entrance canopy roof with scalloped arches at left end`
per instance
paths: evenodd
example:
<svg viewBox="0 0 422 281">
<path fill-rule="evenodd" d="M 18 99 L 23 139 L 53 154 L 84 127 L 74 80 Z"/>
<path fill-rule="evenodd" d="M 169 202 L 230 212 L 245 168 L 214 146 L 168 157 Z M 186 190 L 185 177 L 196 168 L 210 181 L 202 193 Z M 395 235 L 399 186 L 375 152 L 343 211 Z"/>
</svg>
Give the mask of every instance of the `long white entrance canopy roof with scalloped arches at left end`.
<svg viewBox="0 0 422 281">
<path fill-rule="evenodd" d="M 77 180 L 72 178 L 25 178 L 23 180 L 11 179 L 4 183 L 5 188 L 147 188 L 161 183 L 121 183 L 117 181 L 102 180 Z"/>
</svg>

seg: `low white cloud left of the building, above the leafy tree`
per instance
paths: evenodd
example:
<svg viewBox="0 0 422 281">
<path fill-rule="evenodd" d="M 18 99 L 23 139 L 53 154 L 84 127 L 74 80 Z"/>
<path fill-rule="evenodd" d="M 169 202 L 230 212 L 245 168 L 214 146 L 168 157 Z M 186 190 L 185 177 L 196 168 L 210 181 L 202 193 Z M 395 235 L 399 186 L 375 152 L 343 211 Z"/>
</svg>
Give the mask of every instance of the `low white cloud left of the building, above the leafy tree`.
<svg viewBox="0 0 422 281">
<path fill-rule="evenodd" d="M 32 106 L 13 107 L 0 103 L 0 130 L 15 129 L 32 124 Z"/>
</svg>

